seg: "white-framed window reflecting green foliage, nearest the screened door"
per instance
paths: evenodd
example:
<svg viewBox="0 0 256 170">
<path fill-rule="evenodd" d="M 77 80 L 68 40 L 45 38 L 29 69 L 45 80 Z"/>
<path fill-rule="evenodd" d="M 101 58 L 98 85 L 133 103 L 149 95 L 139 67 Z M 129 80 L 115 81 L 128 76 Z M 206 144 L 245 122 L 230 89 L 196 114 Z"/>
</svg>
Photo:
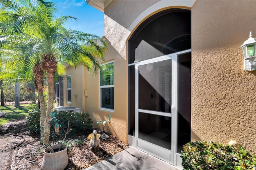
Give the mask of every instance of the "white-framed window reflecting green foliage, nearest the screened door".
<svg viewBox="0 0 256 170">
<path fill-rule="evenodd" d="M 100 65 L 100 109 L 114 110 L 114 62 Z"/>
</svg>

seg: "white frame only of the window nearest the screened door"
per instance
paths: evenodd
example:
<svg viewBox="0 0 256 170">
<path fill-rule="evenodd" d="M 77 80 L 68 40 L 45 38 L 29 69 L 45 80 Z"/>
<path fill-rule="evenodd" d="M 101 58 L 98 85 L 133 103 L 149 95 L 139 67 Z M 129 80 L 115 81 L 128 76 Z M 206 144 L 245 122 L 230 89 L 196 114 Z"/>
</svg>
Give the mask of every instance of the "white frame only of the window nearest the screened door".
<svg viewBox="0 0 256 170">
<path fill-rule="evenodd" d="M 100 77 L 101 77 L 101 73 L 99 71 L 99 110 L 102 110 L 102 111 L 108 111 L 108 112 L 112 112 L 114 113 L 114 108 L 115 108 L 115 105 L 114 105 L 114 94 L 113 94 L 113 109 L 109 109 L 109 108 L 106 108 L 106 107 L 102 107 L 102 89 L 103 88 L 113 88 L 113 93 L 114 93 L 114 61 L 108 61 L 104 64 L 101 64 L 100 67 L 102 67 L 103 65 L 107 65 L 109 63 L 113 63 L 113 85 L 100 85 Z"/>
</svg>

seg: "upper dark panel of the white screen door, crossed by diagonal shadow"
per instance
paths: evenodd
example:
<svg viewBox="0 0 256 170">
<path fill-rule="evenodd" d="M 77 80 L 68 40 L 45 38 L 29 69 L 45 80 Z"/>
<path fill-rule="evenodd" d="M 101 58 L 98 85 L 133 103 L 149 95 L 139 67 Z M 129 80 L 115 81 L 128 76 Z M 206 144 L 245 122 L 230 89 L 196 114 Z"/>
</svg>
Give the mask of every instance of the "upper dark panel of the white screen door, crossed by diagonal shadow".
<svg viewBox="0 0 256 170">
<path fill-rule="evenodd" d="M 139 109 L 171 113 L 172 60 L 139 66 Z"/>
</svg>

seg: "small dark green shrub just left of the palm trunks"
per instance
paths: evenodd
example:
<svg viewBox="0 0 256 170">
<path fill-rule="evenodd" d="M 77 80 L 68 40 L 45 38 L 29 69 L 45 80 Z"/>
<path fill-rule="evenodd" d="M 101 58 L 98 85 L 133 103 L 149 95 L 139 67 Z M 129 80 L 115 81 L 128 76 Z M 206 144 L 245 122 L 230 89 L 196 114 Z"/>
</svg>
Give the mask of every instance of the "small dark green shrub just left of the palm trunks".
<svg viewBox="0 0 256 170">
<path fill-rule="evenodd" d="M 40 132 L 40 109 L 34 109 L 28 112 L 27 124 L 28 124 L 28 130 L 31 133 Z"/>
</svg>

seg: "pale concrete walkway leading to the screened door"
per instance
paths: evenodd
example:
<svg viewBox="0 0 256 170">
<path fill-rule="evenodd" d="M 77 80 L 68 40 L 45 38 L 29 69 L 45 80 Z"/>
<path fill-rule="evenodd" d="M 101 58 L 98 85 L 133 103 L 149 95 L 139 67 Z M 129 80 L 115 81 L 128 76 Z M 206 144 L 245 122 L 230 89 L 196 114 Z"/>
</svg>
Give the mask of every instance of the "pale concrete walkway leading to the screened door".
<svg viewBox="0 0 256 170">
<path fill-rule="evenodd" d="M 154 156 L 130 147 L 83 170 L 180 170 Z"/>
</svg>

